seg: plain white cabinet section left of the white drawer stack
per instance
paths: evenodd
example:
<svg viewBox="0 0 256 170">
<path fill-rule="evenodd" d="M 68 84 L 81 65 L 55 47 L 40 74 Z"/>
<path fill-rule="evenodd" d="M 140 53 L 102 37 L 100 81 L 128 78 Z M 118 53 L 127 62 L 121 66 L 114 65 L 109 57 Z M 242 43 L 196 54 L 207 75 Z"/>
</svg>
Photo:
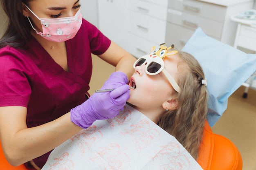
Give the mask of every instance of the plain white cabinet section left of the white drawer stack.
<svg viewBox="0 0 256 170">
<path fill-rule="evenodd" d="M 127 46 L 128 0 L 98 0 L 99 30 L 110 40 Z"/>
</svg>

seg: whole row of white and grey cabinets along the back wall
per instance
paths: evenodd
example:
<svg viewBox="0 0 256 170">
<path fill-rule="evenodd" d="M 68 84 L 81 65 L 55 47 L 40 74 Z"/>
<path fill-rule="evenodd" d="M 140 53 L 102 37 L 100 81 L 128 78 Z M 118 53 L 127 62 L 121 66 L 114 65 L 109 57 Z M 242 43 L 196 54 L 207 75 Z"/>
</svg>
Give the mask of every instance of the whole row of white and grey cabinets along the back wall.
<svg viewBox="0 0 256 170">
<path fill-rule="evenodd" d="M 166 42 L 182 49 L 201 27 L 233 46 L 231 15 L 253 7 L 253 0 L 98 0 L 99 29 L 135 57 Z"/>
</svg>

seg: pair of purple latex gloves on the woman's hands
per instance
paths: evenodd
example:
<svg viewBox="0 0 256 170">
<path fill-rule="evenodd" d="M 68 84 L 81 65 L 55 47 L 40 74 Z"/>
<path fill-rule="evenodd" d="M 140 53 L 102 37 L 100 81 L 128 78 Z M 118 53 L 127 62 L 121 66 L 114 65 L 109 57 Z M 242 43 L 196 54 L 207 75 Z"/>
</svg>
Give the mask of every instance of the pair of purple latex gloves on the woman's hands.
<svg viewBox="0 0 256 170">
<path fill-rule="evenodd" d="M 71 121 L 81 128 L 88 128 L 95 120 L 109 119 L 118 115 L 130 97 L 128 78 L 123 72 L 114 72 L 101 89 L 114 91 L 94 93 L 83 104 L 70 110 Z"/>
</svg>

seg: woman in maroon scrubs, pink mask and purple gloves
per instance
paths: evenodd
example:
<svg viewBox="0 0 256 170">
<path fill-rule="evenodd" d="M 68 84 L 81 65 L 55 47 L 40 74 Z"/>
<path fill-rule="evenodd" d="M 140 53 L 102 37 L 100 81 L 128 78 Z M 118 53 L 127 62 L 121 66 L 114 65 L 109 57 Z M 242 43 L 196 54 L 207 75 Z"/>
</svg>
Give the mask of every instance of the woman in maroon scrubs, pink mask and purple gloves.
<svg viewBox="0 0 256 170">
<path fill-rule="evenodd" d="M 51 150 L 81 128 L 119 113 L 136 59 L 82 18 L 79 0 L 1 5 L 9 19 L 0 39 L 1 145 L 11 165 L 42 168 Z M 91 53 L 116 66 L 104 85 L 116 90 L 87 100 Z"/>
</svg>

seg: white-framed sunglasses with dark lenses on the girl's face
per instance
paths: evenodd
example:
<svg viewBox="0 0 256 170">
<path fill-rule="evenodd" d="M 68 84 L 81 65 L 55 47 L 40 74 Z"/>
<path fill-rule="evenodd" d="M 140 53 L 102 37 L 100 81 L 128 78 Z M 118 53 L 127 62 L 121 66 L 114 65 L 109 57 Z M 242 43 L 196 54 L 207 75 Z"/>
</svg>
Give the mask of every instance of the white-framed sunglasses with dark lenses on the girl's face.
<svg viewBox="0 0 256 170">
<path fill-rule="evenodd" d="M 144 55 L 133 64 L 133 68 L 135 68 L 136 66 L 141 66 L 145 63 L 147 63 L 145 71 L 148 75 L 157 75 L 162 71 L 170 84 L 173 86 L 174 90 L 180 93 L 179 85 L 175 82 L 170 73 L 168 73 L 168 71 L 166 71 L 166 69 L 164 68 L 164 60 L 161 57 L 151 54 Z"/>
</svg>

